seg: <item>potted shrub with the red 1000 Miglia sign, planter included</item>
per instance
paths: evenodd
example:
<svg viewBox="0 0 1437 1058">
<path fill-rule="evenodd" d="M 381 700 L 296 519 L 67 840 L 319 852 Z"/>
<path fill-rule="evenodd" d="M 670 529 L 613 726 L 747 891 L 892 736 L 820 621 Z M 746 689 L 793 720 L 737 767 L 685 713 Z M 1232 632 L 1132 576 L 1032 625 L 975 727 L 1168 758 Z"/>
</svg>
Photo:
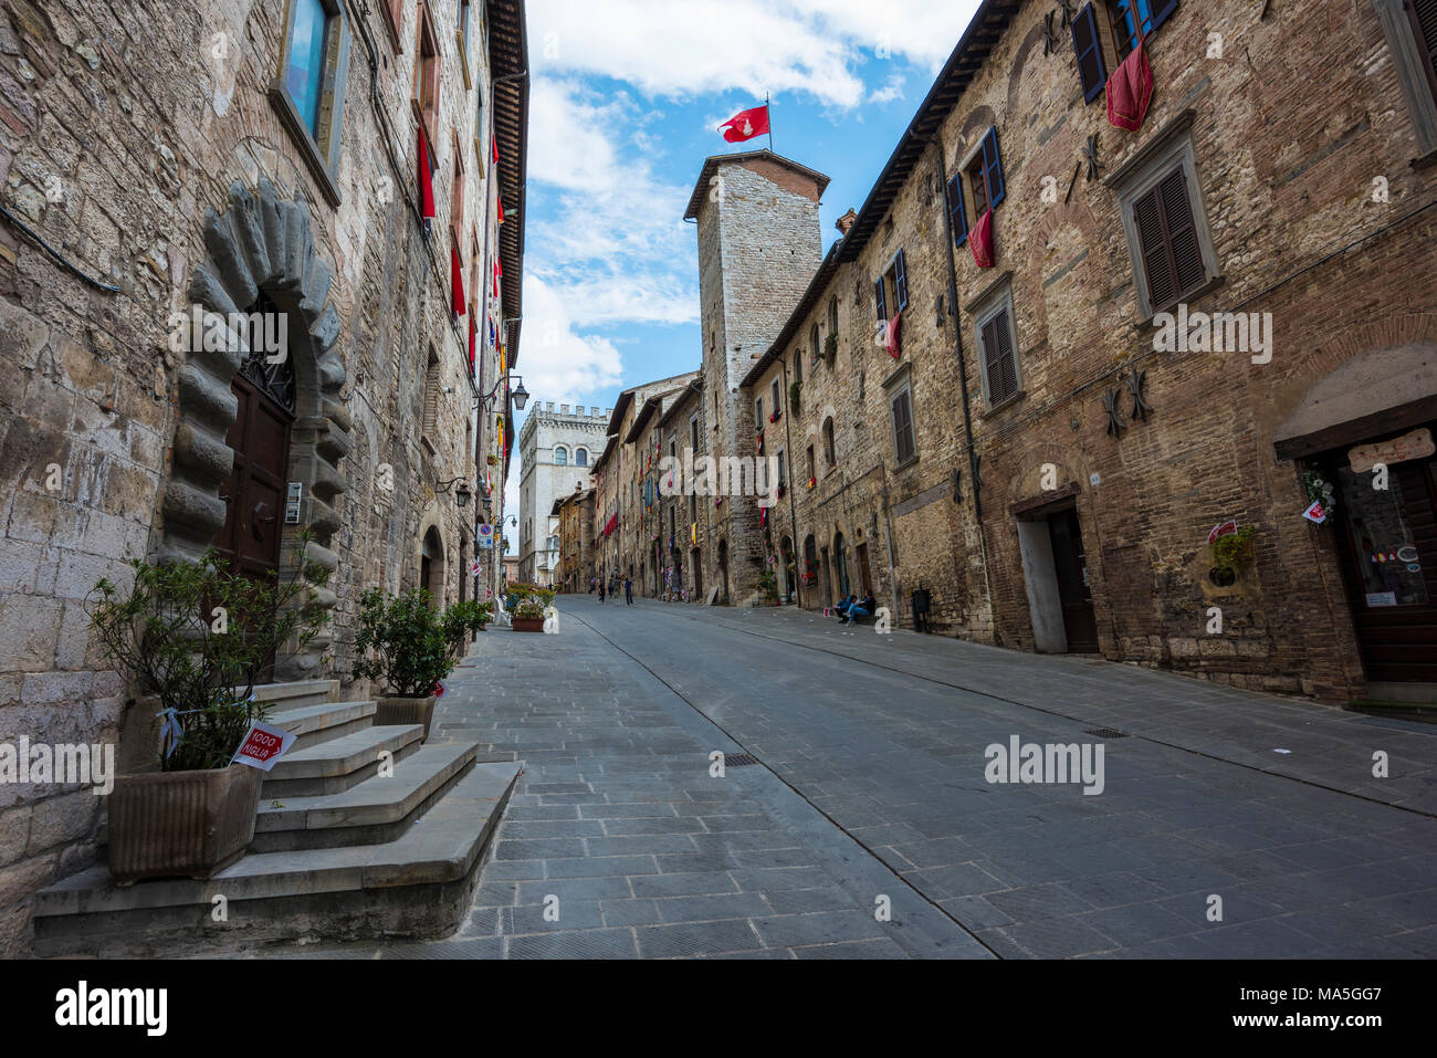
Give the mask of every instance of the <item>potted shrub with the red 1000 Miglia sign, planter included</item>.
<svg viewBox="0 0 1437 1058">
<path fill-rule="evenodd" d="M 299 553 L 305 553 L 300 536 Z M 86 599 L 99 650 L 160 710 L 155 762 L 116 776 L 109 868 L 116 886 L 141 878 L 208 878 L 239 860 L 254 837 L 263 773 L 233 763 L 253 720 L 256 681 L 282 647 L 303 648 L 323 625 L 315 589 L 326 571 L 302 561 L 289 579 L 250 579 L 217 552 L 198 561 L 129 564 L 134 579 L 108 578 Z"/>
</svg>

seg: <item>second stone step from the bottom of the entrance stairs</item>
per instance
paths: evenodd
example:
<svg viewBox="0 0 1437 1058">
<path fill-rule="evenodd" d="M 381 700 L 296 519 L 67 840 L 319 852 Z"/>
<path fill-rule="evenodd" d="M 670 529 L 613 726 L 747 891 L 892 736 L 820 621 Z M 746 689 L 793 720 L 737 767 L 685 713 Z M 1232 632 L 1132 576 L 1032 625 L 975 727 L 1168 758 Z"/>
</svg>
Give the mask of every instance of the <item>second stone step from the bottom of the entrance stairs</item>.
<svg viewBox="0 0 1437 1058">
<path fill-rule="evenodd" d="M 477 742 L 424 746 L 341 794 L 262 801 L 251 852 L 394 841 L 474 763 Z"/>
</svg>

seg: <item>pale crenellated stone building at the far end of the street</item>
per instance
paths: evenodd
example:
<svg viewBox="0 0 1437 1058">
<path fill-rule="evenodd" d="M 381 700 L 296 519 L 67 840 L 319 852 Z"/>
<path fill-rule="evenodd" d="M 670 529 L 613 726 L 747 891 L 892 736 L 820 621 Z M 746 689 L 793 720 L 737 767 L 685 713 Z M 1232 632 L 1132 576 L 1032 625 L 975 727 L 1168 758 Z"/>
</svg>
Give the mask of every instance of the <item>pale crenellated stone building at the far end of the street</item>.
<svg viewBox="0 0 1437 1058">
<path fill-rule="evenodd" d="M 589 487 L 589 469 L 606 440 L 611 408 L 535 401 L 519 430 L 519 579 L 558 582 L 559 522 L 555 502 Z"/>
</svg>

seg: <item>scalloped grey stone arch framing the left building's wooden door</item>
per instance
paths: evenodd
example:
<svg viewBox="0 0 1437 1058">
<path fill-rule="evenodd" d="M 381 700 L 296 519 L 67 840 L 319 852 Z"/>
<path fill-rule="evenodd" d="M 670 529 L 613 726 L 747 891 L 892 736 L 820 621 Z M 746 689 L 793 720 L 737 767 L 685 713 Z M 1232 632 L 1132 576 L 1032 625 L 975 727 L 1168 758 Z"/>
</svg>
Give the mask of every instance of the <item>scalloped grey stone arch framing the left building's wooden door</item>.
<svg viewBox="0 0 1437 1058">
<path fill-rule="evenodd" d="M 190 310 L 230 316 L 250 309 L 263 293 L 287 316 L 295 372 L 295 423 L 290 433 L 289 480 L 305 487 L 299 523 L 286 526 L 286 551 L 308 529 L 315 540 L 308 556 L 331 572 L 339 556 L 329 543 L 339 529 L 335 505 L 348 490 L 339 461 L 349 454 L 349 411 L 341 402 L 345 368 L 335 349 L 339 313 L 329 299 L 333 272 L 315 249 L 309 207 L 282 200 L 274 184 L 260 177 L 256 190 L 236 181 L 228 210 L 213 207 L 204 217 L 204 259 L 194 267 L 187 290 Z M 230 384 L 240 369 L 239 342 L 231 351 L 193 351 L 178 371 L 178 421 L 171 477 L 161 502 L 164 518 L 160 561 L 194 559 L 224 526 L 220 484 L 228 477 L 234 453 L 226 443 L 239 404 Z M 293 561 L 292 555 L 289 561 Z M 336 597 L 318 594 L 326 610 Z M 282 658 L 282 678 L 318 668 L 331 640 L 316 637 L 303 656 Z"/>
</svg>

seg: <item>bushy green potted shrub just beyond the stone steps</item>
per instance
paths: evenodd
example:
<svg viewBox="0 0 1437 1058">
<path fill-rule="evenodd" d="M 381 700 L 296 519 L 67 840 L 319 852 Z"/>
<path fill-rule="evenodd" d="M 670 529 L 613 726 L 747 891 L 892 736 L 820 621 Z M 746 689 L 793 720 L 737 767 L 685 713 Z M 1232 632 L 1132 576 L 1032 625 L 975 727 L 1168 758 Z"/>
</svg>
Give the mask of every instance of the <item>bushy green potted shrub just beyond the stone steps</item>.
<svg viewBox="0 0 1437 1058">
<path fill-rule="evenodd" d="M 421 723 L 427 740 L 440 681 L 458 664 L 466 634 L 487 620 L 487 604 L 473 601 L 456 602 L 441 617 L 422 588 L 361 595 L 354 674 L 389 691 L 375 699 L 374 724 Z"/>
</svg>

